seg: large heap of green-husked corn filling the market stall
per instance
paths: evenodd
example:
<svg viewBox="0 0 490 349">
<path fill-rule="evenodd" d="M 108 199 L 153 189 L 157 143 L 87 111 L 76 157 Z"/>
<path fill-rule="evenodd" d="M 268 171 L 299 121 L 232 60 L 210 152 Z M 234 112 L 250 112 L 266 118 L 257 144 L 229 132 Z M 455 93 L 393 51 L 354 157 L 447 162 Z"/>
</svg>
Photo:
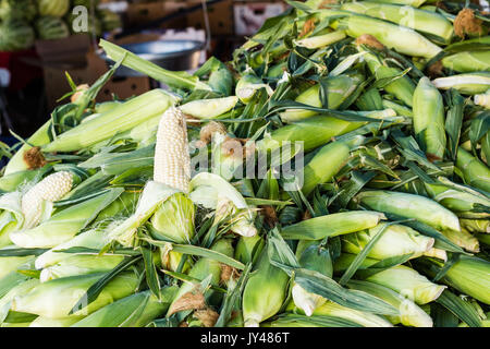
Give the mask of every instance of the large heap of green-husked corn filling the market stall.
<svg viewBox="0 0 490 349">
<path fill-rule="evenodd" d="M 193 75 L 100 43 L 0 178 L 2 326 L 489 325 L 489 17 L 290 4 Z"/>
</svg>

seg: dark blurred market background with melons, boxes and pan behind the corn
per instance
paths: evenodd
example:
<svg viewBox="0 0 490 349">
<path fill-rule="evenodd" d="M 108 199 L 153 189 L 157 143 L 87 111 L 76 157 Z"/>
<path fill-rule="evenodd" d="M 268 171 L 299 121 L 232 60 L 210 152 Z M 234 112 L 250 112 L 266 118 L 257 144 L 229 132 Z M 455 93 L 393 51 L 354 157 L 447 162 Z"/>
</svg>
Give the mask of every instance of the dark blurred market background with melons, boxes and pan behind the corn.
<svg viewBox="0 0 490 349">
<path fill-rule="evenodd" d="M 171 70 L 193 71 L 232 51 L 271 16 L 280 0 L 0 0 L 0 141 L 12 145 L 48 118 L 74 84 L 91 84 L 108 70 L 100 38 L 126 46 Z M 158 87 L 120 70 L 99 101 Z"/>
</svg>

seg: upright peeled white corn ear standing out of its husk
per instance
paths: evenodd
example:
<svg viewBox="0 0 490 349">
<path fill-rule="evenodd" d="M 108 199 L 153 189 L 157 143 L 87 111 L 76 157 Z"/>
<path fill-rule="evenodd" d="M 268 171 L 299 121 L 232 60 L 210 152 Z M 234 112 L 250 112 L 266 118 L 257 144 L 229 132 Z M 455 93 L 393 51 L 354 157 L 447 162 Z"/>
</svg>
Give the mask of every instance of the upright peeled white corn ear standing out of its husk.
<svg viewBox="0 0 490 349">
<path fill-rule="evenodd" d="M 184 113 L 169 108 L 160 119 L 155 148 L 154 180 L 188 192 L 191 157 Z"/>
</svg>

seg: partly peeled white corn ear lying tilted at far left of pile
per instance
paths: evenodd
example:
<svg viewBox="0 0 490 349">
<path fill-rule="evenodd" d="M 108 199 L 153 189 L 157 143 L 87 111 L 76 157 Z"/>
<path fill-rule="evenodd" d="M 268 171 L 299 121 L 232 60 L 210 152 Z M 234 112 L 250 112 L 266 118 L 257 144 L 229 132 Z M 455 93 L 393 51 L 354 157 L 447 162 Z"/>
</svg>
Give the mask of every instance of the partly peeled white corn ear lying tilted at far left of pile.
<svg viewBox="0 0 490 349">
<path fill-rule="evenodd" d="M 25 217 L 24 228 L 39 224 L 42 201 L 56 202 L 66 195 L 73 186 L 73 174 L 69 171 L 52 173 L 34 185 L 22 197 L 22 213 Z"/>
</svg>

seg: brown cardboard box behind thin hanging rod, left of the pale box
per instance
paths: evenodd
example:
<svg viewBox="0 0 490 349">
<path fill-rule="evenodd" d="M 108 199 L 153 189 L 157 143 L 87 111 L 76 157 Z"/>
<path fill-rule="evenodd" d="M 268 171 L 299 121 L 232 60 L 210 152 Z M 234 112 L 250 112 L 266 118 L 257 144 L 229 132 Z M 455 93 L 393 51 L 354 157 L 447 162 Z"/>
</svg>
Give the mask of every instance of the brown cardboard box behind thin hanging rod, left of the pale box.
<svg viewBox="0 0 490 349">
<path fill-rule="evenodd" d="M 200 5 L 199 0 L 188 0 L 188 7 Z M 224 0 L 213 4 L 207 4 L 209 27 L 211 35 L 233 35 L 233 1 Z M 187 13 L 187 24 L 196 29 L 206 29 L 203 9 Z"/>
</svg>

